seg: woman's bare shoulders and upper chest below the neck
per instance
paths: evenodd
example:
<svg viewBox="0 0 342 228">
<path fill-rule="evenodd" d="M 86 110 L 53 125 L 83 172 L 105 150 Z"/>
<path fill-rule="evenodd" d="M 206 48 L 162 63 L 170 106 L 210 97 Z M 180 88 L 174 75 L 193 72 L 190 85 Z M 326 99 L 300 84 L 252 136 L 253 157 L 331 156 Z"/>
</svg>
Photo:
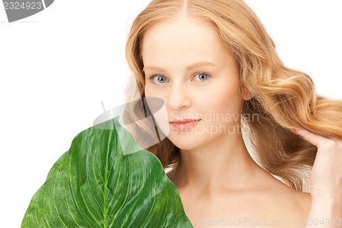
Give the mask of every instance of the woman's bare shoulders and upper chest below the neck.
<svg viewBox="0 0 342 228">
<path fill-rule="evenodd" d="M 274 227 L 275 222 L 276 227 L 305 227 L 311 206 L 310 194 L 289 188 L 255 163 L 250 170 L 252 175 L 236 186 L 228 188 L 222 184 L 215 190 L 205 188 L 205 183 L 202 191 L 195 186 L 182 185 L 177 172 L 170 171 L 168 177 L 179 191 L 185 213 L 195 228 L 227 227 L 229 223 L 260 227 L 261 221 L 268 223 L 268 227 Z M 220 225 L 210 225 L 215 220 L 219 220 Z"/>
</svg>

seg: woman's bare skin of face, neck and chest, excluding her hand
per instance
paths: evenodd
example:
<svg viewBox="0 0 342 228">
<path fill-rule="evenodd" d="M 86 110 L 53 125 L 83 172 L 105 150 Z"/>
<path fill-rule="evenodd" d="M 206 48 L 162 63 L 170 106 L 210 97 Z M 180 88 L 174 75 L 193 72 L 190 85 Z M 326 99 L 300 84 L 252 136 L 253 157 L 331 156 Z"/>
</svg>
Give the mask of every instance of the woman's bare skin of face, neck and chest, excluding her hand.
<svg viewBox="0 0 342 228">
<path fill-rule="evenodd" d="M 238 116 L 244 100 L 250 99 L 239 90 L 233 56 L 224 49 L 212 25 L 186 16 L 154 25 L 144 35 L 142 59 L 146 97 L 160 97 L 168 111 L 166 120 L 155 116 L 158 125 L 168 127 L 174 119 L 201 118 L 196 131 L 170 127 L 168 135 L 181 149 L 179 167 L 168 176 L 194 227 L 234 227 L 209 224 L 221 219 L 263 220 L 268 227 L 304 227 L 310 194 L 289 188 L 260 168 L 248 154 L 238 127 L 228 133 L 213 131 L 222 126 L 233 129 L 239 118 L 220 123 L 204 118 L 209 110 Z M 282 224 L 272 225 L 278 220 Z M 246 221 L 235 227 L 267 226 Z"/>
</svg>

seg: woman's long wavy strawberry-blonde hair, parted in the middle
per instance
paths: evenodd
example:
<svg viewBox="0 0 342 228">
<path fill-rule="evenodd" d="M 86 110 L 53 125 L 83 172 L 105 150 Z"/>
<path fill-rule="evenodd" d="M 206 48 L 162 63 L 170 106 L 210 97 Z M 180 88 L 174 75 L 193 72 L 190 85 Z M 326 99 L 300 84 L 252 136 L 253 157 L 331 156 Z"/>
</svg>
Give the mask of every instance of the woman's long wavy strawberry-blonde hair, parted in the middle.
<svg viewBox="0 0 342 228">
<path fill-rule="evenodd" d="M 127 62 L 138 88 L 133 97 L 144 97 L 141 55 L 144 33 L 156 23 L 174 18 L 181 12 L 215 26 L 234 55 L 241 88 L 253 96 L 244 102 L 241 127 L 254 160 L 291 188 L 307 192 L 317 148 L 295 134 L 293 129 L 302 127 L 321 136 L 342 139 L 342 101 L 317 95 L 308 75 L 282 64 L 274 42 L 244 1 L 151 1 L 135 18 L 127 40 Z M 130 97 L 131 90 L 132 87 L 127 88 Z M 246 119 L 253 114 L 258 115 L 258 121 Z M 127 106 L 124 118 L 133 122 L 142 117 L 131 105 Z M 144 123 L 139 126 L 146 128 Z M 176 168 L 181 159 L 179 149 L 168 138 L 147 150 L 159 158 L 164 168 Z"/>
</svg>

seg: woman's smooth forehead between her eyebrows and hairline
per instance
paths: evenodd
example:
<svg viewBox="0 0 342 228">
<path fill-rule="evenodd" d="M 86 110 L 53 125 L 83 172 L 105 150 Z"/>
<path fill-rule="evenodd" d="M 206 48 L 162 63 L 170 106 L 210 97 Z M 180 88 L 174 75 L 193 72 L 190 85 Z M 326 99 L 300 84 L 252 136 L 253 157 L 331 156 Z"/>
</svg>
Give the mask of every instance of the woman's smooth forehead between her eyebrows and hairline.
<svg viewBox="0 0 342 228">
<path fill-rule="evenodd" d="M 150 27 L 142 41 L 144 64 L 220 62 L 228 54 L 218 29 L 185 16 Z"/>
</svg>

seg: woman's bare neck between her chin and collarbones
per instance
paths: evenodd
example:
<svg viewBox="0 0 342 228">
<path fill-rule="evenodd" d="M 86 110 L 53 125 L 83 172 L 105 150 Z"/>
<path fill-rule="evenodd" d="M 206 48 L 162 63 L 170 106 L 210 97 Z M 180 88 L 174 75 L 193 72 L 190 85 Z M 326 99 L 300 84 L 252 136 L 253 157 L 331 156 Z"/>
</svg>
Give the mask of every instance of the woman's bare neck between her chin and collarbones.
<svg viewBox="0 0 342 228">
<path fill-rule="evenodd" d="M 170 174 L 178 190 L 241 190 L 261 168 L 250 157 L 241 134 L 225 136 L 205 147 L 181 150 L 179 166 Z"/>
</svg>

